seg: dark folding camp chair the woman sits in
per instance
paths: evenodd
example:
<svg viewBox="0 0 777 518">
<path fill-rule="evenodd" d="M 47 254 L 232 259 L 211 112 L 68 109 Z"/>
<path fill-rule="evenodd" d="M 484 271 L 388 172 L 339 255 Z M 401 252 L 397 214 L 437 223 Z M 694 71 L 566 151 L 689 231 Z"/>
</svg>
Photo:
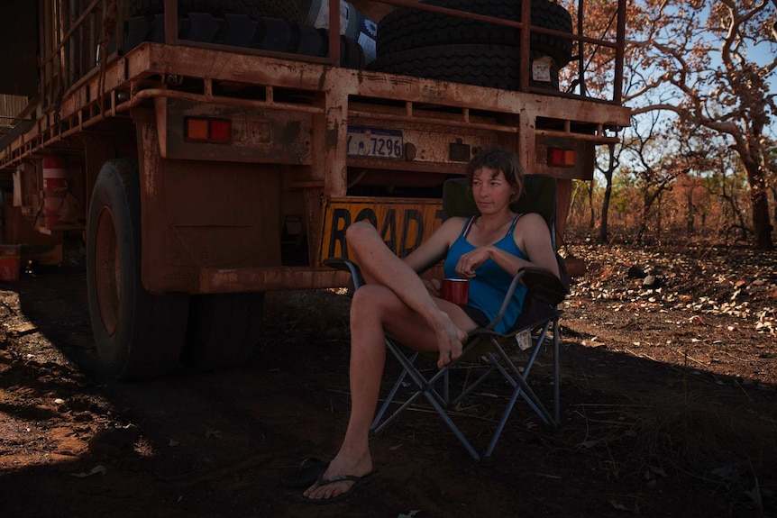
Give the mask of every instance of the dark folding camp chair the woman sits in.
<svg viewBox="0 0 777 518">
<path fill-rule="evenodd" d="M 478 214 L 477 206 L 468 190 L 466 178 L 454 178 L 445 182 L 443 186 L 443 212 L 446 217 Z M 512 205 L 512 209 L 519 214 L 532 212 L 541 214 L 545 222 L 548 223 L 555 250 L 555 179 L 553 177 L 545 175 L 526 176 L 524 193 Z M 433 374 L 431 377 L 426 377 L 426 371 L 422 371 L 418 364 L 424 358 L 435 361 L 436 355 L 424 355 L 416 351 L 407 351 L 398 341 L 387 337 L 386 345 L 401 364 L 402 372 L 391 388 L 385 402 L 379 408 L 378 413 L 376 413 L 375 419 L 370 426 L 370 432 L 374 434 L 382 432 L 389 423 L 398 418 L 400 413 L 407 410 L 421 395 L 425 395 L 425 398 L 432 404 L 434 410 L 440 414 L 444 423 L 448 425 L 453 434 L 462 442 L 472 458 L 480 461 L 480 453 L 475 450 L 459 427 L 453 423 L 448 412 L 455 409 L 465 397 L 472 395 L 474 389 L 495 372 L 500 373 L 504 377 L 507 385 L 511 387 L 511 393 L 508 396 L 507 405 L 502 412 L 501 420 L 491 436 L 488 447 L 483 451 L 482 457 L 488 459 L 493 453 L 499 436 L 505 428 L 507 418 L 512 413 L 519 396 L 526 401 L 545 425 L 553 430 L 557 430 L 559 426 L 561 381 L 559 377 L 559 316 L 562 312 L 556 306 L 569 293 L 569 285 L 566 270 L 563 268 L 563 260 L 558 254 L 556 258 L 559 262 L 563 281 L 544 268 L 522 268 L 513 278 L 501 309 L 494 320 L 487 326 L 471 332 L 467 342 L 464 344 L 462 357 L 453 361 L 447 367 L 436 370 L 436 372 L 434 372 L 435 369 L 432 369 Z M 358 289 L 360 283 L 359 271 L 352 262 L 347 259 L 326 259 L 325 263 L 333 268 L 350 271 L 352 282 Z M 520 282 L 524 283 L 527 288 L 526 300 L 521 315 L 512 326 L 510 332 L 501 334 L 493 331 L 494 326 L 501 320 L 507 308 L 507 303 Z M 527 382 L 538 353 L 549 342 L 553 343 L 553 406 L 551 411 L 546 408 L 546 405 Z M 519 345 L 522 347 L 519 347 Z M 511 356 L 509 354 L 514 349 L 526 349 L 527 358 L 522 366 L 516 365 L 513 359 L 515 355 Z M 461 386 L 458 390 L 452 391 L 452 371 L 472 360 L 483 363 L 484 372 L 481 372 L 467 386 Z M 389 407 L 392 404 L 397 404 L 394 398 L 398 395 L 400 388 L 406 383 L 407 377 L 410 377 L 417 389 L 412 395 L 409 395 L 404 403 L 399 404 L 393 413 L 388 417 L 384 417 Z M 452 393 L 455 395 L 452 396 Z"/>
</svg>

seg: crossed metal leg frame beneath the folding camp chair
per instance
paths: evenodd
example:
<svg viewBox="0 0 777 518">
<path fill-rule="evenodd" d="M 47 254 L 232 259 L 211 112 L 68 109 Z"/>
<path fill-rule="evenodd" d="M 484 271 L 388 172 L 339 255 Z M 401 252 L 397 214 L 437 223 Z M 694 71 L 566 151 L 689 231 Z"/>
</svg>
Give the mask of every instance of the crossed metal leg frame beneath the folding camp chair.
<svg viewBox="0 0 777 518">
<path fill-rule="evenodd" d="M 528 385 L 526 381 L 541 347 L 545 344 L 545 340 L 547 338 L 547 332 L 551 329 L 551 327 L 553 328 L 553 415 L 551 415 L 551 413 L 548 412 L 544 404 L 542 404 L 540 398 L 535 394 L 534 390 L 532 390 L 532 388 Z M 480 337 L 480 339 L 482 340 L 484 339 L 484 337 Z M 453 400 L 449 398 L 450 393 L 449 393 L 448 375 L 450 372 L 449 369 L 452 368 L 453 365 L 455 365 L 455 363 L 446 368 L 440 369 L 433 377 L 426 379 L 418 371 L 418 369 L 416 369 L 415 364 L 416 364 L 416 359 L 419 356 L 419 353 L 415 352 L 414 354 L 412 354 L 410 358 L 408 358 L 402 352 L 402 350 L 400 350 L 398 344 L 387 339 L 386 341 L 387 347 L 389 348 L 389 350 L 391 350 L 394 356 L 397 357 L 399 363 L 402 365 L 403 371 L 402 371 L 402 374 L 398 377 L 397 382 L 394 384 L 394 386 L 392 386 L 391 391 L 389 392 L 389 395 L 384 401 L 384 403 L 381 405 L 379 412 L 376 413 L 375 419 L 370 425 L 370 432 L 373 432 L 374 434 L 379 434 L 380 432 L 382 432 L 390 423 L 393 423 L 398 418 L 400 413 L 404 412 L 410 404 L 413 404 L 416 401 L 416 399 L 423 394 L 426 396 L 426 399 L 429 401 L 429 403 L 432 404 L 432 406 L 434 406 L 434 410 L 436 410 L 437 413 L 439 413 L 440 416 L 443 418 L 443 422 L 448 425 L 448 427 L 451 429 L 451 431 L 456 436 L 456 438 L 462 442 L 462 444 L 464 445 L 464 448 L 470 453 L 472 458 L 480 461 L 480 454 L 472 447 L 471 442 L 464 437 L 463 433 L 452 422 L 450 416 L 448 415 L 448 413 L 446 413 L 446 409 L 454 408 L 457 404 L 459 404 L 459 402 L 462 401 L 463 398 L 465 398 L 468 395 L 471 395 L 471 392 L 477 386 L 480 386 L 480 383 L 482 383 L 494 369 L 498 369 L 498 371 L 501 372 L 502 376 L 505 377 L 507 382 L 511 386 L 513 386 L 513 392 L 510 395 L 507 407 L 502 413 L 502 417 L 498 423 L 497 429 L 494 432 L 493 436 L 491 437 L 491 440 L 489 441 L 489 446 L 483 452 L 483 457 L 489 458 L 493 453 L 493 450 L 496 447 L 497 441 L 501 433 L 504 431 L 504 428 L 507 424 L 507 419 L 512 413 L 513 407 L 515 406 L 517 402 L 517 398 L 519 396 L 522 397 L 526 401 L 526 404 L 528 404 L 532 408 L 532 410 L 535 411 L 537 416 L 539 416 L 540 419 L 543 420 L 545 425 L 550 426 L 553 429 L 553 431 L 558 430 L 558 426 L 560 422 L 560 419 L 559 419 L 560 401 L 559 400 L 560 400 L 560 385 L 561 385 L 561 379 L 559 377 L 560 367 L 559 367 L 558 317 L 553 318 L 544 324 L 542 332 L 540 332 L 539 336 L 536 339 L 534 350 L 530 354 L 529 359 L 526 361 L 526 366 L 524 367 L 523 373 L 518 371 L 515 364 L 512 362 L 511 359 L 509 359 L 509 357 L 507 356 L 507 352 L 501 347 L 501 345 L 499 345 L 498 340 L 494 335 L 491 335 L 485 339 L 489 340 L 493 347 L 493 351 L 489 351 L 485 353 L 485 356 L 486 358 L 489 359 L 489 363 L 490 363 L 488 370 L 482 375 L 480 375 L 480 377 L 478 377 L 471 384 L 471 386 L 468 386 L 466 389 L 464 389 L 462 391 L 462 394 L 458 395 Z M 471 341 L 471 343 L 468 344 L 468 347 L 464 348 L 464 354 L 466 354 L 468 350 L 471 350 L 473 347 L 475 347 L 477 343 L 478 341 Z M 494 352 L 496 352 L 496 355 L 494 354 Z M 408 375 L 416 383 L 416 386 L 418 386 L 418 390 L 416 390 L 416 392 L 413 395 L 411 395 L 405 403 L 401 404 L 394 413 L 392 413 L 381 423 L 380 420 L 383 418 L 383 415 L 389 409 L 389 405 L 393 403 L 394 396 L 397 395 L 399 387 L 402 386 L 403 381 Z M 434 385 L 438 381 L 440 381 L 441 378 L 443 379 L 442 396 L 434 388 Z"/>
</svg>

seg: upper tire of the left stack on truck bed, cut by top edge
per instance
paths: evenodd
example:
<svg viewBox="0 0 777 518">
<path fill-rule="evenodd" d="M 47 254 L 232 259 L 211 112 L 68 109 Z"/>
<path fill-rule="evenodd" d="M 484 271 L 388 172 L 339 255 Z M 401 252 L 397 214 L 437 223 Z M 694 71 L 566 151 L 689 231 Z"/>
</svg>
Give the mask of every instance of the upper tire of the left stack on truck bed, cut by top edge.
<svg viewBox="0 0 777 518">
<path fill-rule="evenodd" d="M 130 16 L 160 14 L 164 0 L 130 0 Z M 224 14 L 245 14 L 254 20 L 261 16 L 300 22 L 297 3 L 290 0 L 178 0 L 178 16 L 189 13 L 210 13 L 218 18 Z"/>
</svg>

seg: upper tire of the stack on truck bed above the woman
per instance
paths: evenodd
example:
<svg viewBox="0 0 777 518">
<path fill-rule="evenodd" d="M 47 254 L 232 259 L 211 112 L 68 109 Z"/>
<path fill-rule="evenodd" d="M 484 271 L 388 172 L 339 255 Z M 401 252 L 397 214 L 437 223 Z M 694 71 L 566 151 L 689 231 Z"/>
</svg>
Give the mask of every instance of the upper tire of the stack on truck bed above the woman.
<svg viewBox="0 0 777 518">
<path fill-rule="evenodd" d="M 521 21 L 520 0 L 425 0 L 423 3 Z M 569 12 L 562 5 L 548 0 L 532 0 L 532 24 L 545 29 L 572 32 Z M 377 56 L 380 59 L 410 49 L 462 43 L 518 46 L 520 37 L 520 31 L 505 25 L 398 8 L 380 20 Z M 533 32 L 531 50 L 553 57 L 556 65 L 561 68 L 571 60 L 572 41 Z"/>
</svg>

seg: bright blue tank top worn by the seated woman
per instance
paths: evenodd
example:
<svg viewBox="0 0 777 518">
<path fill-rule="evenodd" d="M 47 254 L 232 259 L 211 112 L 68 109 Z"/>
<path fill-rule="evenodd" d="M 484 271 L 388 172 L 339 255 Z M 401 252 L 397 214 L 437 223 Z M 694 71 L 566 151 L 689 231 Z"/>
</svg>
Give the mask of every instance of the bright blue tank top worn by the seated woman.
<svg viewBox="0 0 777 518">
<path fill-rule="evenodd" d="M 507 231 L 505 237 L 495 242 L 494 246 L 520 259 L 528 260 L 526 254 L 518 248 L 516 240 L 513 239 L 513 231 L 521 215 L 523 214 L 516 215 L 516 218 L 510 225 L 510 230 Z M 474 221 L 475 218 L 472 217 L 464 225 L 462 234 L 456 241 L 453 241 L 450 250 L 448 250 L 448 255 L 443 265 L 445 277 L 458 277 L 456 275 L 456 264 L 458 264 L 459 258 L 477 248 L 470 241 L 467 241 L 467 234 L 470 232 L 470 227 Z M 510 287 L 513 277 L 515 277 L 515 274 L 507 273 L 492 259 L 488 259 L 475 270 L 475 277 L 470 279 L 470 296 L 467 305 L 479 309 L 489 318 L 490 322 L 499 313 L 499 307 L 501 307 L 502 301 L 505 299 L 505 294 L 507 294 L 507 289 Z M 504 316 L 502 316 L 502 320 L 494 327 L 494 331 L 502 333 L 509 331 L 516 322 L 518 315 L 521 314 L 525 298 L 526 286 L 519 284 L 516 286 L 516 291 L 513 293 L 510 304 L 507 305 L 507 310 Z"/>
</svg>

